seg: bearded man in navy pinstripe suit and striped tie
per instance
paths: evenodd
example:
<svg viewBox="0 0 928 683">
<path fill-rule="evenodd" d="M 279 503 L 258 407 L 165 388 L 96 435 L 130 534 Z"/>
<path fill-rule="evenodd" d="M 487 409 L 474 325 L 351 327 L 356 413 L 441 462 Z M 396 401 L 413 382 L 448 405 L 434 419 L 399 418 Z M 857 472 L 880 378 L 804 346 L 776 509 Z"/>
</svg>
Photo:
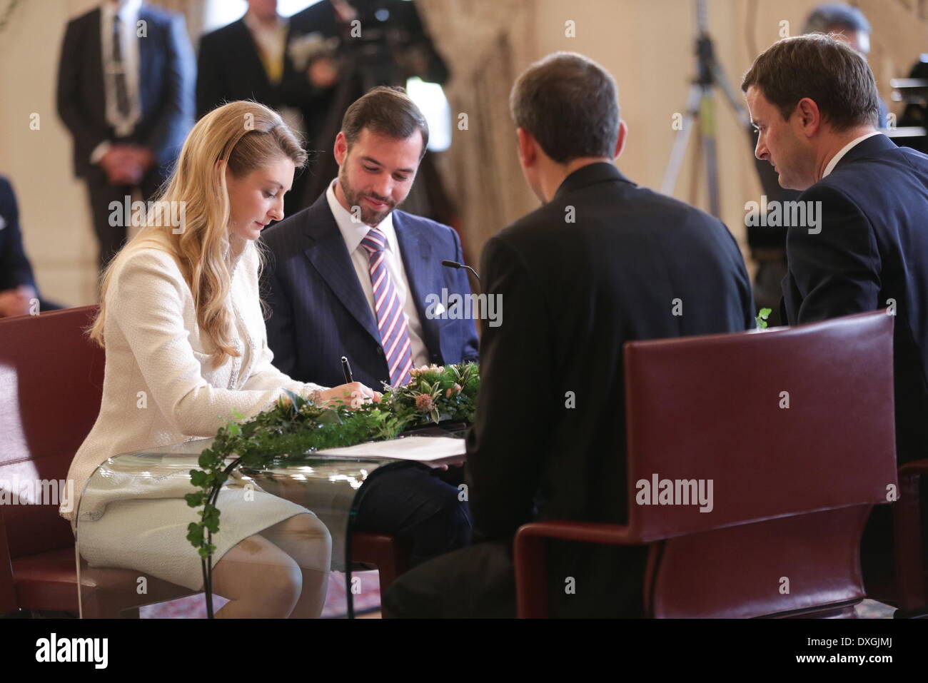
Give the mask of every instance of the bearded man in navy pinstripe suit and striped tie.
<svg viewBox="0 0 928 683">
<path fill-rule="evenodd" d="M 457 233 L 394 211 L 428 139 L 402 88 L 374 88 L 345 112 L 338 178 L 312 206 L 264 232 L 268 344 L 293 379 L 342 384 L 342 355 L 354 380 L 375 389 L 406 383 L 412 367 L 477 360 L 474 321 L 434 303 L 470 297 L 465 272 L 442 265 L 463 262 Z M 413 565 L 467 545 L 467 503 L 441 477 L 460 480 L 422 465 L 376 470 L 355 528 L 406 539 Z"/>
</svg>

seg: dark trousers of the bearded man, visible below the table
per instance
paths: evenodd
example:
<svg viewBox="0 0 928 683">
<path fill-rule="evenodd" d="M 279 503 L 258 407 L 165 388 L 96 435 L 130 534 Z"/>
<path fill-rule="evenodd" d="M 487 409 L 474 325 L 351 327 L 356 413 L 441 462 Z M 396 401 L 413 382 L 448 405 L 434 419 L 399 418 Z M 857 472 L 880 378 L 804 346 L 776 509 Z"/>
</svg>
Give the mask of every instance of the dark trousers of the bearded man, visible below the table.
<svg viewBox="0 0 928 683">
<path fill-rule="evenodd" d="M 412 547 L 409 566 L 470 544 L 467 502 L 454 483 L 462 468 L 432 470 L 404 463 L 374 470 L 364 484 L 356 531 L 389 534 Z"/>
</svg>

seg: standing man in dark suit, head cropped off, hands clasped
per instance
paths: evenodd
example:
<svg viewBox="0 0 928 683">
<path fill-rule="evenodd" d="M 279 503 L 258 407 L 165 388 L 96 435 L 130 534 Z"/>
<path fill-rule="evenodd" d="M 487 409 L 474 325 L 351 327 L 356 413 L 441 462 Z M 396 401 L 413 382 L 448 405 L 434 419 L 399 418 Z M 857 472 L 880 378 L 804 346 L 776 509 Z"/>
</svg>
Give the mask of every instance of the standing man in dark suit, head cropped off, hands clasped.
<svg viewBox="0 0 928 683">
<path fill-rule="evenodd" d="M 74 172 L 87 182 L 100 270 L 131 218 L 111 221 L 110 203 L 131 203 L 134 187 L 151 200 L 180 153 L 193 122 L 194 69 L 183 16 L 141 0 L 105 0 L 68 24 L 58 114 L 74 138 Z"/>
</svg>

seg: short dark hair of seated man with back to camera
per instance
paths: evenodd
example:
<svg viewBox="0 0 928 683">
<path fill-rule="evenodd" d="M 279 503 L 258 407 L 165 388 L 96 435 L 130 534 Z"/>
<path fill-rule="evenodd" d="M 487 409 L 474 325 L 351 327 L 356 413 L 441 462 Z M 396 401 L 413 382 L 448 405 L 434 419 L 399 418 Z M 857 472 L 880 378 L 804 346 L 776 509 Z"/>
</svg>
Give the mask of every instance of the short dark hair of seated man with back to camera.
<svg viewBox="0 0 928 683">
<path fill-rule="evenodd" d="M 619 101 L 615 81 L 592 59 L 556 52 L 536 61 L 509 94 L 512 121 L 553 161 L 615 154 Z"/>
</svg>

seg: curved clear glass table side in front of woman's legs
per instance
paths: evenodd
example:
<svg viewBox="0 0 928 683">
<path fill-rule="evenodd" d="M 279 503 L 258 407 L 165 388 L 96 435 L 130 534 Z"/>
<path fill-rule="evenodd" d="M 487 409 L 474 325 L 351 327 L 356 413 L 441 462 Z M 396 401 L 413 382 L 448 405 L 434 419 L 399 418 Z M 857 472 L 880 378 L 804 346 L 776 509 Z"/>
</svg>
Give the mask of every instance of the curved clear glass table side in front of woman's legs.
<svg viewBox="0 0 928 683">
<path fill-rule="evenodd" d="M 187 541 L 198 509 L 184 496 L 197 491 L 189 471 L 212 443 L 151 448 L 110 457 L 97 468 L 77 509 L 82 616 L 138 616 L 141 606 L 202 591 L 202 563 Z M 406 463 L 307 454 L 236 471 L 217 502 L 216 616 L 318 616 L 329 571 L 346 568 L 358 493 L 385 465 Z"/>
</svg>

